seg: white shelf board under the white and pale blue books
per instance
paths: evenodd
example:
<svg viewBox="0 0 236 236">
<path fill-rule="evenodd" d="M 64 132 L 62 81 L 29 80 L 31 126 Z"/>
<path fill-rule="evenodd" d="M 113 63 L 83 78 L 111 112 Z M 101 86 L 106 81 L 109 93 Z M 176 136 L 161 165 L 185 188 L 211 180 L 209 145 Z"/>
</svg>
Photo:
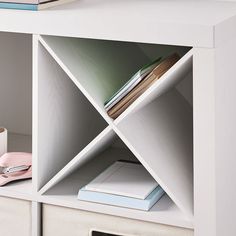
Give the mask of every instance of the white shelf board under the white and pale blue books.
<svg viewBox="0 0 236 236">
<path fill-rule="evenodd" d="M 59 205 L 74 209 L 99 212 L 103 214 L 116 215 L 131 219 L 150 221 L 191 229 L 193 228 L 193 220 L 186 218 L 185 215 L 179 210 L 179 208 L 171 201 L 171 199 L 167 195 L 163 196 L 161 200 L 158 201 L 158 203 L 154 205 L 148 212 L 79 201 L 77 200 L 78 190 L 80 186 L 83 186 L 86 183 L 86 181 L 79 182 L 79 178 L 80 176 L 78 173 L 77 175 L 70 176 L 59 185 L 57 185 L 56 188 L 53 189 L 53 191 L 50 191 L 48 194 L 41 196 L 39 200 L 43 203 L 52 205 Z"/>
</svg>

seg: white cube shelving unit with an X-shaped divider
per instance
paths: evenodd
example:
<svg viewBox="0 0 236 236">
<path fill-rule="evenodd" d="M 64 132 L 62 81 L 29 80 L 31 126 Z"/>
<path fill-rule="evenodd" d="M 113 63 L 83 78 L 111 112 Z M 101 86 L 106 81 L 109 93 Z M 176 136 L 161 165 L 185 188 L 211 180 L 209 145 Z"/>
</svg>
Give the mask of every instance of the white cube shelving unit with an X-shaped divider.
<svg viewBox="0 0 236 236">
<path fill-rule="evenodd" d="M 169 235 L 236 234 L 236 3 L 85 0 L 0 10 L 0 22 L 0 125 L 9 151 L 33 151 L 32 181 L 0 197 L 31 207 L 32 236 L 50 236 L 41 224 L 56 207 L 165 225 Z M 112 120 L 104 102 L 172 52 L 181 59 Z M 120 159 L 141 162 L 165 190 L 150 211 L 77 200 Z"/>
</svg>

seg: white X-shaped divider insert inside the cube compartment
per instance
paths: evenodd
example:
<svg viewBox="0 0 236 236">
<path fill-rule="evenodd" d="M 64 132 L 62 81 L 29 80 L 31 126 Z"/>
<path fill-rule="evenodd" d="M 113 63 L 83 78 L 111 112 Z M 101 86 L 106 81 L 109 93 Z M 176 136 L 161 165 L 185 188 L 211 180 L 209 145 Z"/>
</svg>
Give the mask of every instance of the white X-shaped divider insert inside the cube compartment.
<svg viewBox="0 0 236 236">
<path fill-rule="evenodd" d="M 50 42 L 50 38 L 48 40 Z M 119 153 L 108 149 L 115 134 L 117 134 L 175 204 L 185 214 L 192 216 L 192 108 L 182 95 L 174 89 L 174 86 L 191 72 L 192 50 L 113 121 L 106 114 L 103 103 L 100 102 L 96 93 L 94 95 L 93 91 L 88 91 L 89 89 L 76 79 L 73 67 L 71 70 L 70 66 L 66 65 L 60 58 L 60 52 L 58 53 L 56 48 L 53 48 L 54 43 L 55 45 L 58 43 L 57 40 L 48 44 L 47 40 L 40 37 L 40 42 L 109 124 L 75 158 L 65 165 L 40 190 L 40 193 L 45 193 L 100 153 L 103 155 L 100 159 L 95 160 L 95 165 L 96 162 L 99 163 L 99 161 L 106 159 L 105 166 L 109 166 L 119 159 Z M 66 61 L 68 62 L 68 58 Z M 104 152 L 107 149 L 108 151 Z M 127 156 L 128 159 L 132 158 L 129 152 L 123 156 Z M 99 171 L 101 169 L 94 172 L 94 177 Z M 82 181 L 81 185 L 83 184 Z"/>
</svg>

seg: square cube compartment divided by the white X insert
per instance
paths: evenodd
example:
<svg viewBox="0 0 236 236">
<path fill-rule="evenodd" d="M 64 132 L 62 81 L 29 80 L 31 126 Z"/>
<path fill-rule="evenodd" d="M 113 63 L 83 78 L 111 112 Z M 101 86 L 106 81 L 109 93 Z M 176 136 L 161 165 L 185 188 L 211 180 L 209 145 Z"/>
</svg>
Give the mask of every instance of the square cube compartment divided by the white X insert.
<svg viewBox="0 0 236 236">
<path fill-rule="evenodd" d="M 191 48 L 54 36 L 39 36 L 36 45 L 41 201 L 192 228 Z M 143 64 L 176 51 L 182 58 L 113 121 L 104 102 Z M 88 137 L 90 117 L 99 123 Z M 149 212 L 77 200 L 81 187 L 127 158 L 140 161 L 167 193 Z"/>
</svg>

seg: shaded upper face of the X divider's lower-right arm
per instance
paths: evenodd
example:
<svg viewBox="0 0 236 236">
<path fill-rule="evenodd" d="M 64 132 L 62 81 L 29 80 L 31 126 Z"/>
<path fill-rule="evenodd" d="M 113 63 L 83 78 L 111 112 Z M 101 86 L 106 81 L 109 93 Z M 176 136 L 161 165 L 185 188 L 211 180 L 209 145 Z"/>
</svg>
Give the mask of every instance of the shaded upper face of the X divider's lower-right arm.
<svg viewBox="0 0 236 236">
<path fill-rule="evenodd" d="M 175 90 L 115 129 L 120 138 L 186 214 L 193 215 L 192 110 Z"/>
</svg>

